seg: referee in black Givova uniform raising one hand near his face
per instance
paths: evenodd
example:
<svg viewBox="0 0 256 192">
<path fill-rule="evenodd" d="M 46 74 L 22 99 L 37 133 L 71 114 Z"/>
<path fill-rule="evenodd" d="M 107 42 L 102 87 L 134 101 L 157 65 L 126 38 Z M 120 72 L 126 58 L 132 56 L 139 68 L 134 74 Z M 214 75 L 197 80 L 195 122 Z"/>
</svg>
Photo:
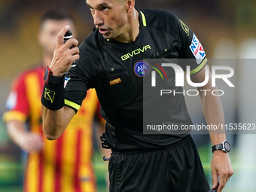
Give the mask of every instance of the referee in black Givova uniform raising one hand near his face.
<svg viewBox="0 0 256 192">
<path fill-rule="evenodd" d="M 79 49 L 74 38 L 63 43 L 69 26 L 59 32 L 53 61 L 44 75 L 44 134 L 47 139 L 59 138 L 79 110 L 87 90 L 95 88 L 101 114 L 107 121 L 105 142 L 112 151 L 111 192 L 208 192 L 210 187 L 189 134 L 144 135 L 142 130 L 142 81 L 149 72 L 143 59 L 194 59 L 190 64 L 191 80 L 203 82 L 206 54 L 194 32 L 173 14 L 139 11 L 134 4 L 134 0 L 87 0 L 96 29 Z M 76 62 L 72 65 L 73 61 Z M 200 89 L 214 87 L 209 81 Z M 224 124 L 218 96 L 200 92 L 200 99 L 207 123 Z M 192 124 L 182 94 L 166 105 L 175 108 L 167 108 L 168 114 L 175 114 L 170 115 L 169 123 Z M 217 187 L 219 181 L 220 192 L 233 169 L 228 150 L 218 148 L 223 142 L 228 145 L 225 135 L 210 131 L 210 136 L 216 149 L 212 158 L 212 187 Z"/>
</svg>

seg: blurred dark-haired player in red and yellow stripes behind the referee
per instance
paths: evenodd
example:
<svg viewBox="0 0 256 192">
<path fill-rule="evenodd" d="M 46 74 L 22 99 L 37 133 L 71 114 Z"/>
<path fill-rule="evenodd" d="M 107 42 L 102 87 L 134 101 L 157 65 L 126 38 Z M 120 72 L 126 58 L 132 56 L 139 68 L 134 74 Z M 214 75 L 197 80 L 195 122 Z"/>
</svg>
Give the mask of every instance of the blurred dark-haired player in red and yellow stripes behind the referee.
<svg viewBox="0 0 256 192">
<path fill-rule="evenodd" d="M 99 108 L 95 90 L 87 92 L 81 110 L 59 139 L 48 141 L 42 133 L 40 99 L 44 69 L 53 59 L 56 35 L 66 25 L 71 26 L 75 35 L 74 19 L 63 10 L 47 11 L 41 18 L 38 41 L 43 49 L 43 61 L 14 81 L 7 101 L 8 111 L 3 116 L 11 139 L 28 153 L 25 192 L 96 191 L 91 162 L 93 117 Z M 28 131 L 26 122 L 29 122 Z"/>
</svg>

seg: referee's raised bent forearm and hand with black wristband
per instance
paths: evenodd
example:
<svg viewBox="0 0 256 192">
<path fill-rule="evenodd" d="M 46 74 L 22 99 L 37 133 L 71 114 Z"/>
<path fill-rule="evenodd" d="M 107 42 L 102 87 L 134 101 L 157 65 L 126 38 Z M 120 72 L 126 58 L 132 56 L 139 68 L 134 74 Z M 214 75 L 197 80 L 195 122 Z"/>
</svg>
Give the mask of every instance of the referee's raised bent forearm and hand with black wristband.
<svg viewBox="0 0 256 192">
<path fill-rule="evenodd" d="M 57 36 L 56 49 L 54 51 L 53 60 L 49 67 L 52 75 L 56 77 L 60 77 L 68 72 L 72 62 L 79 59 L 79 49 L 77 47 L 78 41 L 75 38 L 71 38 L 64 44 L 63 37 L 69 28 L 69 26 L 62 28 Z M 69 49 L 69 47 L 72 47 L 72 45 L 74 47 Z M 61 90 L 64 89 L 63 84 L 53 84 L 53 87 L 53 92 L 44 91 L 43 96 L 46 94 L 46 97 L 43 98 L 42 96 L 43 99 L 50 99 L 50 104 L 48 106 L 41 105 L 44 135 L 50 140 L 59 138 L 59 136 L 61 136 L 66 130 L 66 126 L 68 126 L 72 117 L 75 115 L 74 109 L 66 105 L 62 106 L 61 108 L 54 108 L 54 105 L 57 105 L 59 102 L 64 103 L 65 92 L 63 94 L 63 91 Z M 50 93 L 54 93 L 54 98 L 58 99 L 53 99 L 53 95 L 50 95 Z M 49 109 L 50 105 L 52 105 L 53 108 Z"/>
</svg>

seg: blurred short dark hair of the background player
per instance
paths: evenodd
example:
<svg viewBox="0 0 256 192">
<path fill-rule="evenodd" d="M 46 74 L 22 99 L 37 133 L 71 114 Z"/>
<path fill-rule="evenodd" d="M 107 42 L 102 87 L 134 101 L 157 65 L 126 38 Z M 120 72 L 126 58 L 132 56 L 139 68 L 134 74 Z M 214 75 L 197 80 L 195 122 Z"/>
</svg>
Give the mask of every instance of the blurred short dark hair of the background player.
<svg viewBox="0 0 256 192">
<path fill-rule="evenodd" d="M 40 26 L 46 20 L 72 20 L 75 23 L 75 19 L 69 11 L 66 11 L 61 8 L 50 9 L 45 12 L 45 14 L 41 17 Z"/>
</svg>

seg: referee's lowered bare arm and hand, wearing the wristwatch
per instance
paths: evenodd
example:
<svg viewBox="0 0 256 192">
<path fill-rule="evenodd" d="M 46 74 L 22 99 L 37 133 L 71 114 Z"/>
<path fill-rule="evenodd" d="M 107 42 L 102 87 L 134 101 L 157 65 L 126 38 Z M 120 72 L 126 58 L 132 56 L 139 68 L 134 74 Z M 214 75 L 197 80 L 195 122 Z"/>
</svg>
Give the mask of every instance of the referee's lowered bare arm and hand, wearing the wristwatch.
<svg viewBox="0 0 256 192">
<path fill-rule="evenodd" d="M 201 83 L 205 80 L 206 67 L 195 75 L 191 75 L 191 81 L 195 83 Z M 209 72 L 210 73 L 210 72 Z M 209 90 L 199 91 L 200 99 L 203 108 L 203 114 L 206 117 L 208 125 L 224 125 L 224 111 L 221 105 L 220 96 L 212 95 L 212 90 L 218 90 L 217 87 L 212 87 L 212 78 L 209 74 L 209 81 L 203 87 L 197 87 L 198 90 Z M 209 130 L 212 145 L 219 144 L 226 141 L 224 130 Z M 224 188 L 225 184 L 233 175 L 233 168 L 231 166 L 230 157 L 224 151 L 215 151 L 212 157 L 212 184 L 213 188 L 218 185 L 218 192 Z"/>
</svg>

